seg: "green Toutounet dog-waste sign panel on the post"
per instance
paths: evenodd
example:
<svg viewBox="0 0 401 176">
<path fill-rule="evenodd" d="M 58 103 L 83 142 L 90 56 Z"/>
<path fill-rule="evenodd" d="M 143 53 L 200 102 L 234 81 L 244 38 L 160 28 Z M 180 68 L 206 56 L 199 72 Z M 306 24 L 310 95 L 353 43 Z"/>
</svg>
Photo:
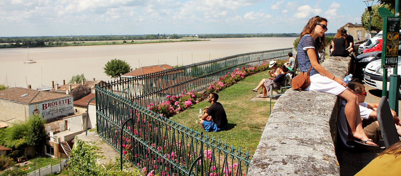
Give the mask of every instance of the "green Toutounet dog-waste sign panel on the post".
<svg viewBox="0 0 401 176">
<path fill-rule="evenodd" d="M 383 17 L 383 49 L 381 63 L 384 68 L 398 63 L 399 17 Z"/>
</svg>

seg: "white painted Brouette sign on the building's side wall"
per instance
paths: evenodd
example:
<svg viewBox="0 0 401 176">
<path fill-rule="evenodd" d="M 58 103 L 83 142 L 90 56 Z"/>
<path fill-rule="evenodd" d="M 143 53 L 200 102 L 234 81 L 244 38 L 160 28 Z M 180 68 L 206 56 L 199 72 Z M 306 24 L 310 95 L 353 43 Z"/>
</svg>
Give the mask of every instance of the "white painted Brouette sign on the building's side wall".
<svg viewBox="0 0 401 176">
<path fill-rule="evenodd" d="M 44 119 L 51 119 L 61 115 L 73 113 L 74 103 L 73 97 L 60 98 L 57 100 L 49 100 L 37 104 L 29 105 L 29 114 L 33 116 L 41 116 Z"/>
</svg>

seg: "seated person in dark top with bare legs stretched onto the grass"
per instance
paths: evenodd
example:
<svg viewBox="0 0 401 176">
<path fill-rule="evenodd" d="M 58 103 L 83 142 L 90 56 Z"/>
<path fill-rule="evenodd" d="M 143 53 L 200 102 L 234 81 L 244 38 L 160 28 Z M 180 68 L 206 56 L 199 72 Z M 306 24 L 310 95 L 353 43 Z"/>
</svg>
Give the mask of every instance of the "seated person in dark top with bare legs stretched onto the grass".
<svg viewBox="0 0 401 176">
<path fill-rule="evenodd" d="M 286 65 L 280 65 L 280 67 L 277 69 L 278 75 L 275 78 L 265 78 L 262 79 L 259 85 L 257 85 L 256 88 L 252 89 L 251 91 L 257 92 L 259 88 L 261 88 L 263 85 L 263 90 L 262 94 L 259 96 L 259 98 L 267 98 L 267 92 L 270 91 L 270 85 L 273 84 L 273 88 L 279 89 L 281 87 L 282 82 L 284 81 L 284 78 L 286 78 L 286 74 L 288 73 L 288 68 Z"/>
</svg>

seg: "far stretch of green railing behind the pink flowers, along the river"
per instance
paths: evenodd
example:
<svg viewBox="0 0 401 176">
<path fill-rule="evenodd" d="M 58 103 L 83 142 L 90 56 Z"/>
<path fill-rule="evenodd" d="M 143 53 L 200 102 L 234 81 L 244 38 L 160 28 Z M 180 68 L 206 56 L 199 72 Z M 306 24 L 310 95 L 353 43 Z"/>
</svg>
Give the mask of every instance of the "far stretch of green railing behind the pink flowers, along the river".
<svg viewBox="0 0 401 176">
<path fill-rule="evenodd" d="M 261 64 L 273 59 L 288 59 L 292 48 L 238 54 L 211 61 L 203 61 L 178 68 L 145 74 L 132 78 L 120 78 L 100 87 L 127 98 L 140 106 L 165 100 L 167 95 L 179 95 L 182 90 L 200 91 L 219 80 L 227 72 L 246 65 Z"/>
</svg>

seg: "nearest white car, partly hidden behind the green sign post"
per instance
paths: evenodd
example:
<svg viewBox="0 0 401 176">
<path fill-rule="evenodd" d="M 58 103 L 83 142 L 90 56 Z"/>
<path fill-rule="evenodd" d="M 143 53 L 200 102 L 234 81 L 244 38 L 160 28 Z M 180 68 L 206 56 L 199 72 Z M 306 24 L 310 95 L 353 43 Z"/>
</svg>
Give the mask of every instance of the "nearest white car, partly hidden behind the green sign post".
<svg viewBox="0 0 401 176">
<path fill-rule="evenodd" d="M 398 56 L 398 70 L 397 74 L 401 75 L 401 56 Z M 387 69 L 387 91 L 390 88 L 390 75 L 393 73 L 393 68 Z M 381 68 L 381 59 L 371 61 L 366 65 L 365 72 L 363 72 L 363 79 L 365 84 L 375 89 L 383 89 L 383 68 Z M 399 90 L 398 97 L 401 98 L 401 90 Z"/>
</svg>

